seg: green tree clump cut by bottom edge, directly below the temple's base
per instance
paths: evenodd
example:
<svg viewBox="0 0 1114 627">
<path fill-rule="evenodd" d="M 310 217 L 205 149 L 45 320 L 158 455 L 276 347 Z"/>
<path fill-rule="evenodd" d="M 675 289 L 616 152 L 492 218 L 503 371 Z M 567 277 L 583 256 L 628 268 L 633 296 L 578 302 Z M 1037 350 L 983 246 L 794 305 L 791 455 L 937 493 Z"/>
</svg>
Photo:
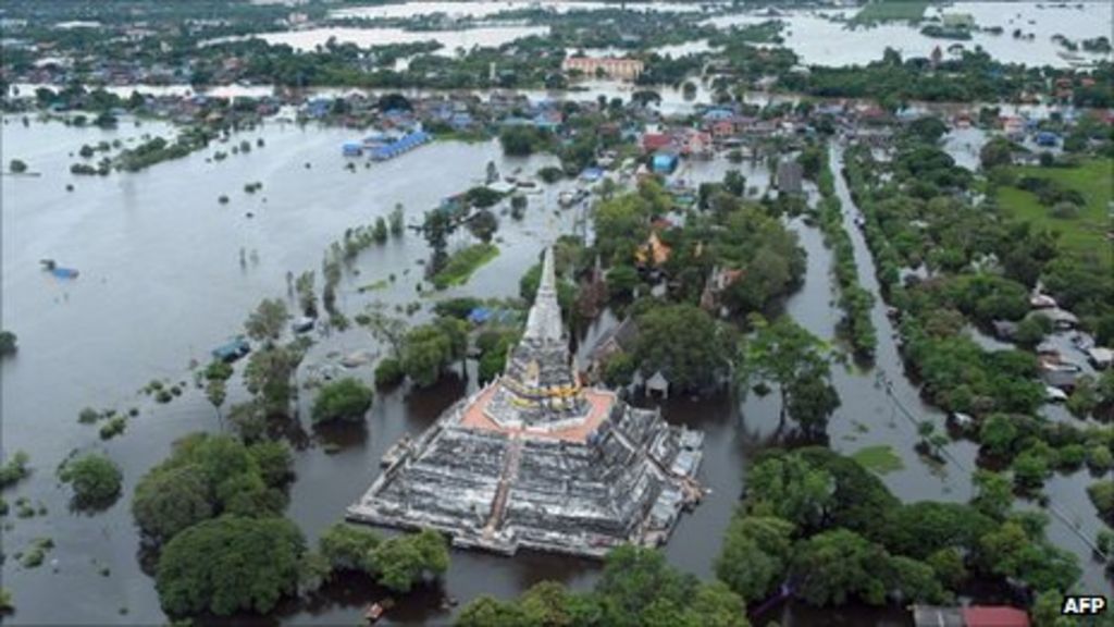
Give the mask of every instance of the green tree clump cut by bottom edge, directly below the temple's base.
<svg viewBox="0 0 1114 627">
<path fill-rule="evenodd" d="M 723 582 L 702 582 L 670 566 L 655 550 L 619 547 L 593 590 L 574 592 L 543 581 L 518 599 L 479 597 L 461 610 L 459 627 L 584 625 L 747 627 L 743 600 Z"/>
</svg>

